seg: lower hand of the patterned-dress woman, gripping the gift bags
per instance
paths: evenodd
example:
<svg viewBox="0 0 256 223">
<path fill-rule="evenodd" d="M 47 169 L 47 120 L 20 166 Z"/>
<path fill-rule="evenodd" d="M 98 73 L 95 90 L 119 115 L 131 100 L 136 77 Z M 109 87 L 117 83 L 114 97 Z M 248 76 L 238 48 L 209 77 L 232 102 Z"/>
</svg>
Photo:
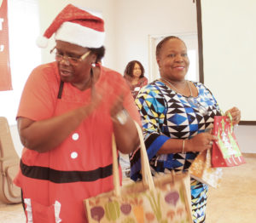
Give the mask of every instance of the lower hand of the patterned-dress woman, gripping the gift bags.
<svg viewBox="0 0 256 223">
<path fill-rule="evenodd" d="M 201 152 L 212 148 L 213 140 L 218 140 L 215 135 L 210 133 L 196 134 L 190 140 L 186 140 L 186 152 Z"/>
</svg>

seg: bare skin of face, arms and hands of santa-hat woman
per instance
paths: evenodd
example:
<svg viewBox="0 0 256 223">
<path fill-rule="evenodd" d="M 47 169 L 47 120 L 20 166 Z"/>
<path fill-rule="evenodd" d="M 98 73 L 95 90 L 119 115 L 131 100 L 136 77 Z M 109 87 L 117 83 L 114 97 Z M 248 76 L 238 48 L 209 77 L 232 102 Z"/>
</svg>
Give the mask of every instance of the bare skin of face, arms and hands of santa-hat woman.
<svg viewBox="0 0 256 223">
<path fill-rule="evenodd" d="M 62 41 L 56 41 L 56 49 L 60 54 L 76 58 L 89 51 L 89 49 Z M 61 80 L 72 83 L 74 87 L 80 90 L 91 89 L 90 103 L 72 111 L 67 111 L 60 116 L 40 121 L 18 117 L 18 130 L 23 146 L 37 152 L 48 152 L 67 139 L 67 136 L 77 129 L 92 111 L 97 109 L 102 102 L 102 96 L 105 92 L 108 92 L 108 86 L 96 91 L 95 83 L 100 77 L 100 68 L 98 66 L 94 67 L 94 75 L 93 77 L 90 76 L 90 68 L 95 61 L 96 54 L 90 53 L 77 66 L 71 66 L 67 59 L 59 62 Z M 118 96 L 109 112 L 113 120 L 116 144 L 119 151 L 126 154 L 137 148 L 139 139 L 136 126 L 130 116 L 128 116 L 124 125 L 120 124 L 115 117 L 123 109 L 123 101 L 123 96 Z"/>
</svg>

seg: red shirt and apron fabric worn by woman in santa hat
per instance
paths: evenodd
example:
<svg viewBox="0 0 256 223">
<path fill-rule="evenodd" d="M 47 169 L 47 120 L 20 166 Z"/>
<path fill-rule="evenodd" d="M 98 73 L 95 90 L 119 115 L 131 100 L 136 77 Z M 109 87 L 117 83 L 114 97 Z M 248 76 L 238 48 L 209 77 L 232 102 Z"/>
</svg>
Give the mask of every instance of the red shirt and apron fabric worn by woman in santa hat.
<svg viewBox="0 0 256 223">
<path fill-rule="evenodd" d="M 104 95 L 100 108 L 73 132 L 79 135 L 78 140 L 73 140 L 73 134 L 70 134 L 61 146 L 45 153 L 25 148 L 21 157 L 22 162 L 29 166 L 72 171 L 87 171 L 112 163 L 113 125 L 109 106 L 115 97 L 125 90 L 126 110 L 138 123 L 140 116 L 124 78 L 115 71 L 101 67 L 101 77 L 96 83 L 96 89 L 102 88 L 106 83 L 108 94 Z M 59 84 L 60 77 L 56 63 L 38 66 L 26 82 L 17 117 L 42 120 L 72 110 L 90 100 L 90 89 L 81 92 L 70 83 L 64 83 L 62 98 L 57 100 Z M 77 158 L 71 157 L 73 152 L 77 152 Z M 93 182 L 55 184 L 46 180 L 30 179 L 20 173 L 15 183 L 22 188 L 25 198 L 31 198 L 33 202 L 44 205 L 46 209 L 58 201 L 61 203 L 60 218 L 63 220 L 61 222 L 76 223 L 86 222 L 84 198 L 113 189 L 112 176 Z"/>
</svg>

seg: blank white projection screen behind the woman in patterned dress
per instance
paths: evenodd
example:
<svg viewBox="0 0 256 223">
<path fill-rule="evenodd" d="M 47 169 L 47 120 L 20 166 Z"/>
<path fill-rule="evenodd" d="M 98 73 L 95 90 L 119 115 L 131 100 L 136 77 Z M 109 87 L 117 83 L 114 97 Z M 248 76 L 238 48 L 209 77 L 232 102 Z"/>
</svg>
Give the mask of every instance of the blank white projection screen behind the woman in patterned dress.
<svg viewBox="0 0 256 223">
<path fill-rule="evenodd" d="M 256 1 L 201 1 L 205 83 L 223 109 L 256 120 Z"/>
</svg>

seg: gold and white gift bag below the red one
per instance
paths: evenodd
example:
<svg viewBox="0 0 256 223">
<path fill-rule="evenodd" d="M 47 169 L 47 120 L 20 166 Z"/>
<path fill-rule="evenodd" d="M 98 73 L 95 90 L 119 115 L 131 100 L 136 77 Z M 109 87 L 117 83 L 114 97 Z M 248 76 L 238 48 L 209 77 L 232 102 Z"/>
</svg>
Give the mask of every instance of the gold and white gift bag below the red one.
<svg viewBox="0 0 256 223">
<path fill-rule="evenodd" d="M 189 174 L 195 180 L 218 188 L 223 175 L 221 168 L 212 168 L 211 150 L 200 152 L 189 167 Z"/>
</svg>

